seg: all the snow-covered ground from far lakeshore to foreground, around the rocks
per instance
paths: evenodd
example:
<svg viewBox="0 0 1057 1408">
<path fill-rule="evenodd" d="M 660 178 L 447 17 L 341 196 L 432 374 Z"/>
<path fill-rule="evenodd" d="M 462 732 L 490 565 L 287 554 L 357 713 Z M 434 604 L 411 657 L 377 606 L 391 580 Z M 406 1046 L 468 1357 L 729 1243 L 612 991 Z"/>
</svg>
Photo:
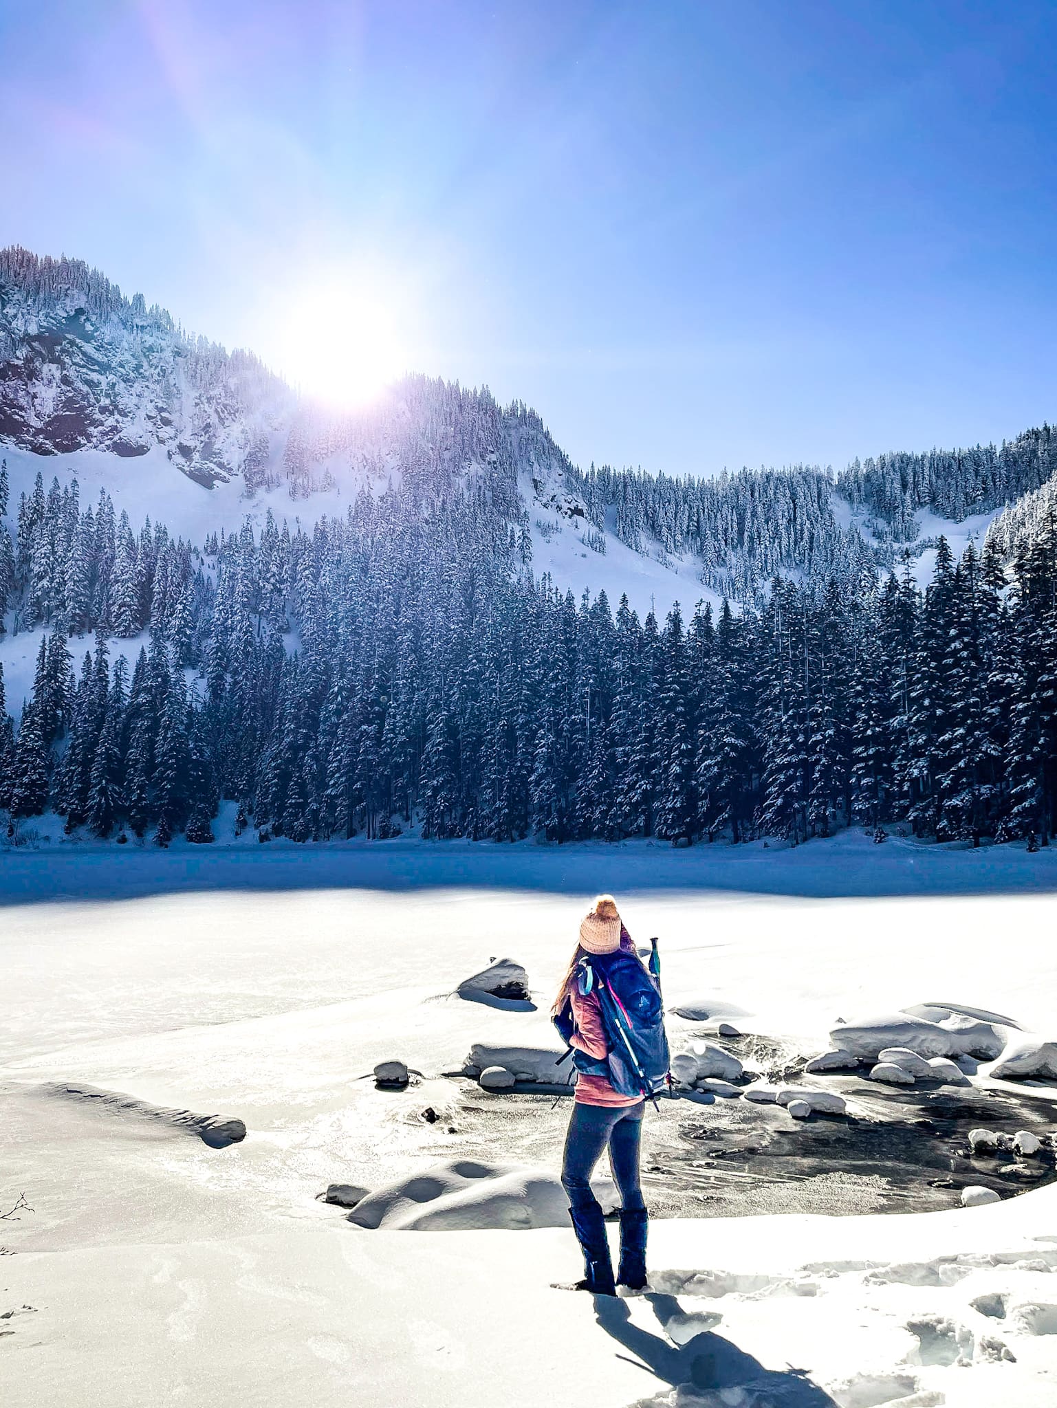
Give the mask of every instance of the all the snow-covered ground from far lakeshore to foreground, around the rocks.
<svg viewBox="0 0 1057 1408">
<path fill-rule="evenodd" d="M 474 1043 L 557 1049 L 545 1008 L 598 888 L 637 939 L 661 936 L 668 1007 L 740 1011 L 786 1050 L 823 1050 L 841 1017 L 943 1001 L 1057 1036 L 1046 852 L 851 834 L 767 852 L 4 852 L 0 1212 L 23 1191 L 34 1209 L 0 1221 L 17 1253 L 0 1257 L 6 1408 L 1051 1408 L 1057 1184 L 916 1215 L 661 1217 L 654 1291 L 627 1302 L 551 1287 L 579 1274 L 560 1226 L 365 1231 L 317 1201 L 404 1180 L 428 1207 L 437 1166 L 458 1170 L 448 1184 L 483 1186 L 490 1164 L 552 1174 L 565 1101 L 445 1073 Z M 455 995 L 496 955 L 524 964 L 536 1010 Z M 693 1029 L 672 1018 L 674 1046 Z M 420 1073 L 410 1088 L 364 1079 L 389 1057 Z M 705 1133 L 751 1114 L 676 1102 L 688 1128 L 684 1110 Z M 173 1111 L 247 1136 L 213 1146 Z M 647 1166 L 648 1198 L 664 1193 Z M 826 1207 L 824 1176 L 789 1205 Z"/>
</svg>

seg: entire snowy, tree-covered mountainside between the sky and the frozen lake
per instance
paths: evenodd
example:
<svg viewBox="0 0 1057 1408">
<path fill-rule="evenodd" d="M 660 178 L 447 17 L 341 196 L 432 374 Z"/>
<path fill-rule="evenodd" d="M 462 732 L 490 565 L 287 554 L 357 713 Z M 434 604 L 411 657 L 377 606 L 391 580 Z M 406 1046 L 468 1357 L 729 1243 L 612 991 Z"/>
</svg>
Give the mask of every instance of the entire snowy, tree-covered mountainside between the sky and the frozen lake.
<svg viewBox="0 0 1057 1408">
<path fill-rule="evenodd" d="M 1057 828 L 1049 425 L 582 470 L 486 390 L 324 413 L 24 251 L 0 339 L 11 843 Z"/>
</svg>

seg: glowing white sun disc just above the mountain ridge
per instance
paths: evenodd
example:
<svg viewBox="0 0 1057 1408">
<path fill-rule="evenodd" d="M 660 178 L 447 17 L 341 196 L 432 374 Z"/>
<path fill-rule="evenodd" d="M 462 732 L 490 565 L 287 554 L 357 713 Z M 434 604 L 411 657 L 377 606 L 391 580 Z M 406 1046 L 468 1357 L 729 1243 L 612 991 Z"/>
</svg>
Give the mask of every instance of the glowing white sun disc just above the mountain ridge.
<svg viewBox="0 0 1057 1408">
<path fill-rule="evenodd" d="M 375 401 L 409 370 L 400 303 L 375 280 L 327 275 L 288 304 L 279 332 L 288 380 L 335 410 Z"/>
</svg>

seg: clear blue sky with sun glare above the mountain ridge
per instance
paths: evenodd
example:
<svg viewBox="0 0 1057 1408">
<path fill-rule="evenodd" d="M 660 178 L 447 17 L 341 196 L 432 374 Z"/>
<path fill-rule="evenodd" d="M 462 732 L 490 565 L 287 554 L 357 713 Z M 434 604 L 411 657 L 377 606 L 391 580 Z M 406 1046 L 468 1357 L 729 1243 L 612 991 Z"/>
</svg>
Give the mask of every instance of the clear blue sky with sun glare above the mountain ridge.
<svg viewBox="0 0 1057 1408">
<path fill-rule="evenodd" d="M 1030 0 L 0 0 L 0 244 L 581 463 L 1001 439 L 1057 417 L 1054 52 Z"/>
</svg>

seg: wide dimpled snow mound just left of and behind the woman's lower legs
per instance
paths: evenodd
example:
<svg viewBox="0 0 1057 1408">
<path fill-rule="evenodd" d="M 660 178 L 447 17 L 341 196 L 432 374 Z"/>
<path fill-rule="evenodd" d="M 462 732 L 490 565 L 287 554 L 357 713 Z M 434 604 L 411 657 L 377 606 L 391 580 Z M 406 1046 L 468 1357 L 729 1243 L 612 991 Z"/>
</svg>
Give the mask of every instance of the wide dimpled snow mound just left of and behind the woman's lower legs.
<svg viewBox="0 0 1057 1408">
<path fill-rule="evenodd" d="M 603 1211 L 619 1207 L 609 1178 L 592 1188 Z M 569 1202 L 550 1169 L 457 1159 L 375 1188 L 348 1221 L 389 1232 L 517 1232 L 568 1228 Z"/>
</svg>

